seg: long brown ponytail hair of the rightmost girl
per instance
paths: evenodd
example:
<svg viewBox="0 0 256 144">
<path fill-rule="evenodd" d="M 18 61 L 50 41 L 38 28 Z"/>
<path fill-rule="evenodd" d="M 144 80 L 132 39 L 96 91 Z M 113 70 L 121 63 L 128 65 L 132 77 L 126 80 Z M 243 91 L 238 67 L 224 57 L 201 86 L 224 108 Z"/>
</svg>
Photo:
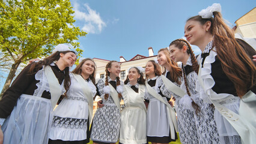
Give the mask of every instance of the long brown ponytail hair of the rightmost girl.
<svg viewBox="0 0 256 144">
<path fill-rule="evenodd" d="M 203 19 L 201 16 L 190 17 L 204 25 L 210 21 L 210 32 L 213 35 L 213 47 L 221 61 L 222 69 L 228 79 L 234 83 L 236 93 L 239 97 L 255 85 L 256 67 L 245 50 L 237 43 L 233 31 L 225 24 L 219 12 L 213 12 L 214 19 Z"/>
</svg>

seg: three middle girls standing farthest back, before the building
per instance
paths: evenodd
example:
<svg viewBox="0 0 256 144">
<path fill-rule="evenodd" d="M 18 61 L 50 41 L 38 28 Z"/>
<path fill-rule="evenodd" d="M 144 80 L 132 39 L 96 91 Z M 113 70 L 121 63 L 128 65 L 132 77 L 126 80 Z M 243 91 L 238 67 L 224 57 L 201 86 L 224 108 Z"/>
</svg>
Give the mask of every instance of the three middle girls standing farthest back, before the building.
<svg viewBox="0 0 256 144">
<path fill-rule="evenodd" d="M 169 143 L 177 139 L 177 121 L 168 101 L 171 94 L 163 83 L 160 66 L 148 61 L 144 68 L 131 67 L 124 83 L 120 82 L 120 64 L 110 61 L 106 77 L 97 82 L 102 101 L 91 125 L 94 143 Z M 110 85 L 109 85 L 110 84 Z M 124 109 L 120 113 L 120 100 Z M 144 99 L 149 102 L 146 109 Z M 146 103 L 147 103 L 146 102 Z"/>
</svg>

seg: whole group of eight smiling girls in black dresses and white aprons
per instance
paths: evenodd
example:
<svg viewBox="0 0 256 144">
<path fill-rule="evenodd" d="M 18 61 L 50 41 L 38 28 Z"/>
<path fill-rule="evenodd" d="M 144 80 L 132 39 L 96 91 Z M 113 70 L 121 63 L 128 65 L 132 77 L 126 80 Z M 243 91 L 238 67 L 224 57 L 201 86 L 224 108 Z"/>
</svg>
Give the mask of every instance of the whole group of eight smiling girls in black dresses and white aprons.
<svg viewBox="0 0 256 144">
<path fill-rule="evenodd" d="M 76 54 L 63 44 L 56 46 L 52 55 L 25 67 L 5 91 L 0 143 L 91 139 L 154 144 L 175 141 L 177 132 L 181 143 L 254 143 L 256 52 L 234 37 L 220 11 L 213 4 L 190 17 L 184 26 L 187 41 L 177 39 L 160 49 L 157 62 L 146 64 L 146 79 L 143 68 L 132 67 L 123 83 L 120 64 L 110 61 L 105 79 L 96 84 L 92 59 L 81 59 L 69 73 Z M 189 43 L 201 49 L 197 58 Z M 102 101 L 92 119 L 95 95 Z"/>
</svg>

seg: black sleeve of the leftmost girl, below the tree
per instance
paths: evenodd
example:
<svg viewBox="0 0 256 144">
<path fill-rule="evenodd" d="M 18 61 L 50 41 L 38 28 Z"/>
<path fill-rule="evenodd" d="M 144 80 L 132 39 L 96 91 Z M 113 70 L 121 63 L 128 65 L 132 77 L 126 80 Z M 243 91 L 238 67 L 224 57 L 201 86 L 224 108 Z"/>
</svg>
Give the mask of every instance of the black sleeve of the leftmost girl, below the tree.
<svg viewBox="0 0 256 144">
<path fill-rule="evenodd" d="M 14 106 L 16 106 L 17 99 L 28 88 L 31 82 L 35 80 L 35 74 L 28 74 L 30 67 L 31 64 L 26 66 L 13 81 L 10 88 L 4 92 L 0 101 L 0 118 L 7 118 L 11 114 Z"/>
</svg>

